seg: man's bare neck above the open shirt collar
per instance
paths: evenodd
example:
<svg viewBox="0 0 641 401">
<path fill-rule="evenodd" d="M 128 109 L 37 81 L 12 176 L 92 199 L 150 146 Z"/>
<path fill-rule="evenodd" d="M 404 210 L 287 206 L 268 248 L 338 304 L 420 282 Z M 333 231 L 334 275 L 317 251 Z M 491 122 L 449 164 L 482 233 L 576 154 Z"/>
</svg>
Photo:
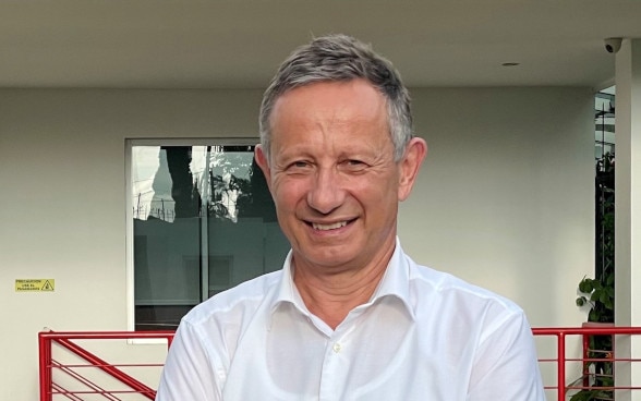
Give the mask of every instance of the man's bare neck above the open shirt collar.
<svg viewBox="0 0 641 401">
<path fill-rule="evenodd" d="M 292 258 L 294 284 L 307 309 L 336 329 L 350 311 L 372 299 L 392 253 L 394 246 L 371 266 L 340 271 L 310 268 Z"/>
</svg>

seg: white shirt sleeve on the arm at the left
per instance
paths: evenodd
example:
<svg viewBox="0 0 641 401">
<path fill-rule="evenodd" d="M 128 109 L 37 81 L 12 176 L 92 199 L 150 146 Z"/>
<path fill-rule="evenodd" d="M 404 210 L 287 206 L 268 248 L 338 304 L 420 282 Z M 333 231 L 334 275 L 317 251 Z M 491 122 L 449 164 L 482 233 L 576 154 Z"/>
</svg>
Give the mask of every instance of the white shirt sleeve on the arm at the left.
<svg viewBox="0 0 641 401">
<path fill-rule="evenodd" d="M 194 327 L 183 320 L 169 348 L 156 401 L 220 401 L 221 378 Z"/>
</svg>

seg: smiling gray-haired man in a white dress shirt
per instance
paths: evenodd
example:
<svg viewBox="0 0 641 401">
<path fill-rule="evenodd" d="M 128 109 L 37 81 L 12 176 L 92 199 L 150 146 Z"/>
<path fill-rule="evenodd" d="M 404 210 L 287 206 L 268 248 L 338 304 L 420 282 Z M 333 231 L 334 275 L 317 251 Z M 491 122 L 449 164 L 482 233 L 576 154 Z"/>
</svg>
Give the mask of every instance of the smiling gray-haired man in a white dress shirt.
<svg viewBox="0 0 641 401">
<path fill-rule="evenodd" d="M 283 62 L 255 157 L 291 252 L 183 318 L 156 400 L 545 400 L 523 312 L 400 246 L 427 150 L 411 123 L 398 73 L 353 38 Z"/>
</svg>

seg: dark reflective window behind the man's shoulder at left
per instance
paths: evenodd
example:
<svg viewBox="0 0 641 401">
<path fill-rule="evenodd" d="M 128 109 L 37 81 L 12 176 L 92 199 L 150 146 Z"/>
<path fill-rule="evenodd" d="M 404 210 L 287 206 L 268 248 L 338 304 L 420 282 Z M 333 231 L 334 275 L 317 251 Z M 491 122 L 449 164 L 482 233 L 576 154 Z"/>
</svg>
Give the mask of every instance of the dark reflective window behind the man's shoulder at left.
<svg viewBox="0 0 641 401">
<path fill-rule="evenodd" d="M 253 143 L 129 142 L 136 330 L 173 329 L 209 296 L 281 268 L 289 243 Z"/>
</svg>

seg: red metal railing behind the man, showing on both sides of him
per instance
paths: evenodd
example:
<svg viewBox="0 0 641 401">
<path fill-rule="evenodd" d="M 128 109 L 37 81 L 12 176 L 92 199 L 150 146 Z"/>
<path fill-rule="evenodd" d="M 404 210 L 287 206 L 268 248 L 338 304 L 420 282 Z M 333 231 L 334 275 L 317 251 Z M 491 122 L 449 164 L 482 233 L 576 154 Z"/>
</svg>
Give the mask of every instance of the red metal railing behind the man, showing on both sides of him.
<svg viewBox="0 0 641 401">
<path fill-rule="evenodd" d="M 641 359 L 630 357 L 629 355 L 617 355 L 615 352 L 608 352 L 603 356 L 594 356 L 593 350 L 589 349 L 591 336 L 613 336 L 613 344 L 616 340 L 631 340 L 637 336 L 641 342 L 641 327 L 575 327 L 575 328 L 534 328 L 533 333 L 537 340 L 552 339 L 551 357 L 541 356 L 540 365 L 542 370 L 551 367 L 555 369 L 555 377 L 553 379 L 544 377 L 545 388 L 548 392 L 556 392 L 554 400 L 565 401 L 567 397 L 577 391 L 586 390 L 603 390 L 607 393 L 615 391 L 634 391 L 641 392 L 641 375 L 640 377 L 632 377 L 629 381 L 622 384 L 615 381 L 612 386 L 594 387 L 594 373 L 589 370 L 589 365 L 592 362 L 625 364 L 628 367 L 632 363 L 641 362 Z M 130 367 L 156 367 L 162 366 L 162 363 L 131 363 L 131 364 L 110 364 L 109 362 L 98 357 L 92 352 L 80 347 L 72 340 L 116 340 L 116 339 L 161 339 L 167 341 L 167 348 L 171 345 L 173 339 L 173 331 L 98 331 L 98 332 L 55 332 L 44 331 L 38 335 L 39 344 L 39 370 L 40 370 L 40 399 L 39 401 L 52 401 L 55 396 L 57 399 L 65 398 L 72 401 L 82 401 L 83 394 L 99 394 L 107 400 L 120 400 L 119 394 L 138 394 L 143 399 L 153 400 L 156 396 L 156 390 L 143 384 L 141 380 L 134 378 L 124 368 Z M 568 345 L 568 342 L 578 344 L 578 347 Z M 83 363 L 69 364 L 57 361 L 53 357 L 53 349 L 56 352 L 61 350 L 75 355 L 76 359 L 84 361 Z M 570 356 L 568 356 L 570 352 Z M 576 356 L 571 356 L 575 354 Z M 575 365 L 575 366 L 572 366 Z M 614 366 L 614 365 L 613 365 Z M 619 366 L 619 365 L 616 365 Z M 112 390 L 100 386 L 96 380 L 87 378 L 87 375 L 81 374 L 83 368 L 92 367 L 106 374 L 111 381 L 116 381 L 125 386 L 128 390 Z M 573 367 L 573 368 L 572 368 Z M 641 370 L 641 364 L 639 364 Z M 61 382 L 53 380 L 53 372 L 58 372 L 60 377 L 66 381 L 73 381 L 82 387 L 82 390 L 70 390 Z M 577 377 L 575 377 L 577 376 Z M 592 386 L 592 387 L 590 387 Z M 93 396 L 96 397 L 96 396 Z M 129 400 L 130 398 L 128 398 Z M 551 399 L 552 401 L 553 399 Z"/>
</svg>

